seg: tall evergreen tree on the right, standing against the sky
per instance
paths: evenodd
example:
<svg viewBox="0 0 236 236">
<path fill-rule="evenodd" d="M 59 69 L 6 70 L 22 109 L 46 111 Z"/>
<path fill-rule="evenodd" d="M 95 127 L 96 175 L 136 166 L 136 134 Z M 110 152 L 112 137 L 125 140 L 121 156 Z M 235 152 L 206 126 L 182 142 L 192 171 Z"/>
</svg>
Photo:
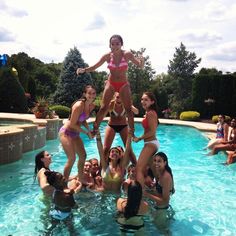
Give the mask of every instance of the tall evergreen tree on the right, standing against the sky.
<svg viewBox="0 0 236 236">
<path fill-rule="evenodd" d="M 175 80 L 171 106 L 178 113 L 191 107 L 191 91 L 192 79 L 194 78 L 194 70 L 201 62 L 201 58 L 197 59 L 194 52 L 189 52 L 181 42 L 180 47 L 176 48 L 173 60 L 170 60 L 168 66 L 168 74 Z"/>
</svg>

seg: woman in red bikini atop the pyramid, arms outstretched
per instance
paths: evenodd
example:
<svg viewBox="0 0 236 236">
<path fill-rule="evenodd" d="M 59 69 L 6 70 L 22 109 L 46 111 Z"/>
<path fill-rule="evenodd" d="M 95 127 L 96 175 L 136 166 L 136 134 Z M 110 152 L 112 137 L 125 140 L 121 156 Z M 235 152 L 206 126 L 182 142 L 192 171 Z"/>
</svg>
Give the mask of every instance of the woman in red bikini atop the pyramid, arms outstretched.
<svg viewBox="0 0 236 236">
<path fill-rule="evenodd" d="M 136 58 L 130 51 L 122 50 L 121 48 L 123 46 L 123 39 L 120 35 L 113 35 L 110 38 L 109 43 L 111 49 L 110 52 L 103 55 L 95 65 L 89 66 L 87 68 L 78 68 L 76 73 L 81 74 L 85 72 L 92 72 L 100 67 L 104 62 L 108 63 L 107 67 L 110 70 L 110 74 L 104 88 L 102 106 L 97 114 L 96 121 L 94 122 L 94 132 L 96 133 L 100 123 L 106 115 L 109 109 L 110 101 L 115 92 L 120 93 L 120 98 L 124 104 L 124 108 L 128 117 L 129 128 L 132 132 L 134 132 L 134 117 L 131 110 L 132 98 L 126 72 L 128 70 L 129 61 L 140 68 L 143 68 L 144 58 L 142 56 Z"/>
</svg>

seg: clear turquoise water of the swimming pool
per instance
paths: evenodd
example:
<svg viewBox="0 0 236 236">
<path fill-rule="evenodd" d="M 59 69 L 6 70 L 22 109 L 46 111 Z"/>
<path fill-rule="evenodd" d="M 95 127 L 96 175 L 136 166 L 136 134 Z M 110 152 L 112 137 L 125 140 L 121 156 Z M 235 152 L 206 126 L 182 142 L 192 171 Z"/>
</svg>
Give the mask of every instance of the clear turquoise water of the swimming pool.
<svg viewBox="0 0 236 236">
<path fill-rule="evenodd" d="M 102 134 L 104 127 L 105 123 L 101 126 Z M 136 134 L 142 132 L 136 124 Z M 222 165 L 226 158 L 223 153 L 205 156 L 202 148 L 208 140 L 194 128 L 160 125 L 157 133 L 160 151 L 167 153 L 175 179 L 176 193 L 171 199 L 175 215 L 169 227 L 172 235 L 235 235 L 236 164 Z M 84 139 L 88 158 L 98 156 L 95 140 L 85 136 Z M 114 145 L 118 144 L 121 140 L 117 135 Z M 132 144 L 136 155 L 142 145 Z M 53 154 L 51 169 L 62 172 L 66 157 L 59 141 L 48 141 L 44 149 Z M 0 166 L 0 234 L 120 235 L 115 222 L 118 196 L 99 193 L 80 194 L 71 225 L 60 224 L 50 230 L 49 208 L 32 178 L 38 152 L 28 152 L 22 160 Z M 76 173 L 76 166 L 72 172 Z M 146 235 L 160 235 L 151 216 L 145 220 Z"/>
</svg>

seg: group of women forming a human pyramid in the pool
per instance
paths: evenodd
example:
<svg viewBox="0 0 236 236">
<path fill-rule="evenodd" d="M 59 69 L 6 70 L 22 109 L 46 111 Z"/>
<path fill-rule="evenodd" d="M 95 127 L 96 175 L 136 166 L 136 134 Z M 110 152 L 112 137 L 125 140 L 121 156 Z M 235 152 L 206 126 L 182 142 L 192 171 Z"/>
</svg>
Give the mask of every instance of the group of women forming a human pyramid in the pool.
<svg viewBox="0 0 236 236">
<path fill-rule="evenodd" d="M 38 177 L 43 192 L 53 196 L 57 206 L 56 215 L 61 211 L 62 216 L 64 216 L 63 212 L 70 212 L 69 209 L 74 204 L 71 194 L 79 192 L 83 186 L 87 186 L 89 168 L 91 176 L 94 176 L 93 185 L 90 186 L 93 186 L 95 191 L 102 189 L 102 191 L 119 192 L 126 183 L 127 195 L 117 201 L 117 210 L 121 214 L 117 222 L 121 226 L 121 231 L 141 231 L 144 225 L 142 215 L 146 214 L 149 208 L 148 203 L 143 200 L 143 196 L 155 203 L 156 210 L 166 211 L 169 208 L 170 196 L 174 193 L 173 175 L 168 165 L 167 156 L 162 152 L 157 152 L 159 142 L 156 131 L 159 121 L 157 102 L 151 92 L 144 92 L 141 97 L 141 104 L 145 110 L 142 120 L 144 132 L 140 137 L 136 137 L 134 133 L 134 114 L 138 114 L 139 111 L 132 105 L 126 72 L 129 61 L 143 68 L 144 58 L 142 56 L 135 57 L 131 52 L 123 50 L 123 39 L 119 35 L 113 35 L 109 44 L 111 51 L 102 56 L 95 65 L 77 69 L 78 75 L 92 72 L 107 62 L 110 70 L 93 130 L 90 130 L 87 119 L 95 108 L 93 102 L 96 98 L 96 90 L 92 85 L 87 85 L 82 98 L 72 104 L 70 117 L 59 132 L 60 141 L 67 156 L 63 175 L 55 174 L 55 172 L 50 173 L 51 156 L 46 151 L 36 156 L 35 175 Z M 110 119 L 106 127 L 104 142 L 102 142 L 99 125 L 108 112 Z M 97 172 L 95 172 L 98 173 L 97 175 L 92 174 L 92 161 L 90 161 L 91 165 L 87 162 L 85 165 L 87 156 L 81 133 L 88 135 L 90 139 L 96 137 L 100 155 L 100 165 L 96 160 Z M 120 134 L 123 141 L 124 152 L 121 147 L 111 147 L 116 133 Z M 138 160 L 136 160 L 131 143 L 141 140 L 144 141 L 144 146 Z M 70 177 L 70 173 L 76 155 L 79 156 L 78 176 L 74 178 Z M 130 162 L 132 162 L 133 168 L 131 169 L 135 174 L 127 182 L 125 176 Z M 85 172 L 87 173 L 86 179 Z M 149 181 L 150 179 L 151 181 Z M 65 184 L 68 181 L 72 182 L 70 185 L 72 187 L 69 189 Z M 97 181 L 102 183 L 102 188 L 101 185 L 96 187 L 99 185 Z M 52 192 L 54 192 L 53 195 Z M 67 198 L 70 199 L 68 206 L 65 206 L 65 201 L 61 203 L 63 201 L 58 200 L 60 198 L 58 196 L 61 195 L 67 195 Z M 60 204 L 62 205 L 60 206 Z M 64 217 L 61 218 L 64 219 Z"/>
</svg>

